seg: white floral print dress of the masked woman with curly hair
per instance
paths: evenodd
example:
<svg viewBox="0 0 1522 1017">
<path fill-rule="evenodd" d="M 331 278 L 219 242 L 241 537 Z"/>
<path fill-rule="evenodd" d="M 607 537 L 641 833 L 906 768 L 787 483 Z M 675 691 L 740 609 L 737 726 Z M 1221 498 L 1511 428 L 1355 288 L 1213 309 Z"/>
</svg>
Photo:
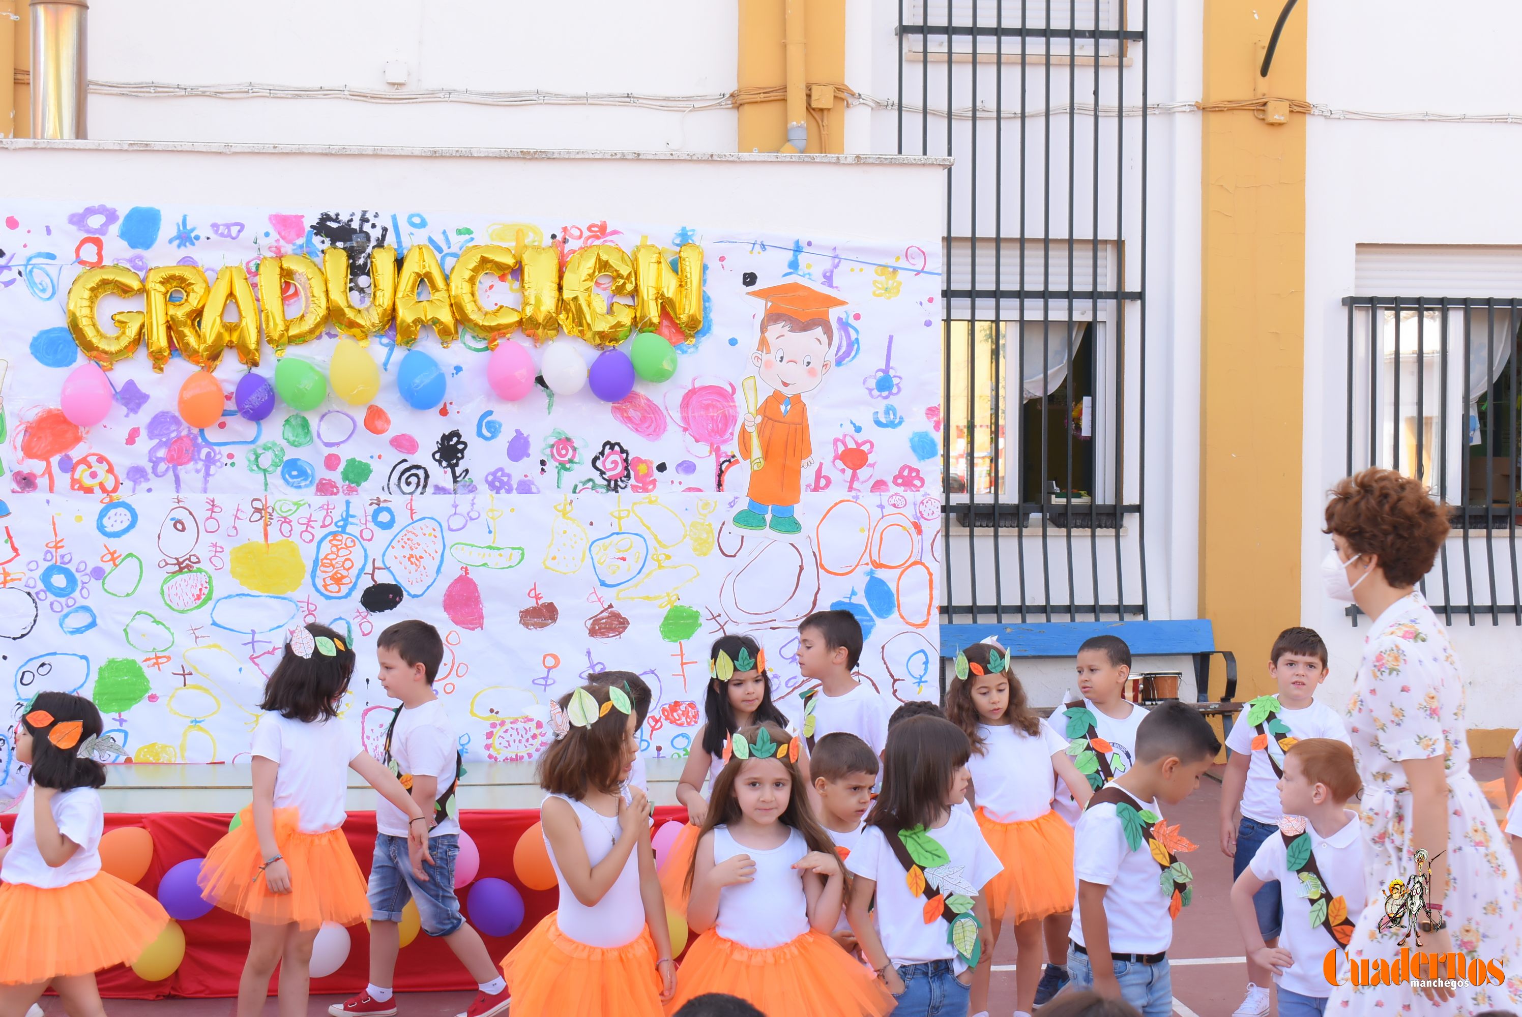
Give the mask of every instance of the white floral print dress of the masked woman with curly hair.
<svg viewBox="0 0 1522 1017">
<path fill-rule="evenodd" d="M 1348 734 L 1364 778 L 1362 842 L 1368 878 L 1364 913 L 1348 942 L 1353 962 L 1400 956 L 1400 933 L 1379 932 L 1385 889 L 1415 872 L 1409 839 L 1411 790 L 1400 760 L 1447 760 L 1447 872 L 1443 898 L 1454 948 L 1470 961 L 1496 961 L 1505 985 L 1467 980 L 1455 999 L 1432 1003 L 1409 984 L 1332 991 L 1327 1009 L 1358 1014 L 1446 1017 L 1482 1009 L 1522 1012 L 1522 885 L 1511 850 L 1479 784 L 1469 772 L 1464 677 L 1447 630 L 1412 592 L 1391 604 L 1370 627 L 1353 681 Z M 1412 941 L 1406 942 L 1415 952 Z"/>
</svg>

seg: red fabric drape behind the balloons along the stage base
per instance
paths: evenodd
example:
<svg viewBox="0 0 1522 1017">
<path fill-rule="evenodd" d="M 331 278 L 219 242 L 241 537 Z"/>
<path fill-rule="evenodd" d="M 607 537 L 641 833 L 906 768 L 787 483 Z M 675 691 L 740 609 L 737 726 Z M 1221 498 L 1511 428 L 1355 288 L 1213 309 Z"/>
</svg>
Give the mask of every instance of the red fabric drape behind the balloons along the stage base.
<svg viewBox="0 0 1522 1017">
<path fill-rule="evenodd" d="M 686 810 L 679 805 L 656 808 L 656 830 L 668 819 L 685 819 Z M 157 892 L 158 880 L 172 866 L 187 859 L 205 857 L 233 821 L 231 813 L 110 813 L 105 818 L 107 831 L 119 827 L 143 827 L 154 837 L 154 860 L 148 875 L 139 886 L 149 894 Z M 556 891 L 531 891 L 517 882 L 513 872 L 513 848 L 531 825 L 539 822 L 539 810 L 466 810 L 461 825 L 481 850 L 481 871 L 476 878 L 492 877 L 507 880 L 524 895 L 524 924 L 511 936 L 484 936 L 492 956 L 501 959 L 513 948 L 519 936 L 533 929 L 540 918 L 556 909 Z M 6 836 L 15 824 L 15 813 L 0 816 Z M 368 874 L 374 854 L 376 818 L 373 811 L 349 813 L 344 836 Z M 460 904 L 466 920 L 470 920 L 470 886 L 460 889 Z M 248 953 L 248 923 L 236 915 L 213 907 L 205 917 L 180 923 L 186 930 L 186 956 L 180 970 L 163 982 L 145 982 L 132 968 L 116 967 L 100 971 L 97 982 L 100 994 L 114 999 L 161 999 L 164 996 L 237 996 L 237 977 Z M 355 993 L 365 987 L 370 974 L 370 933 L 364 924 L 349 929 L 352 945 L 349 959 L 327 977 L 312 979 L 312 993 Z M 5 944 L 0 944 L 5 948 Z M 279 974 L 277 974 L 279 977 Z M 403 993 L 470 990 L 475 982 L 455 959 L 449 947 L 426 933 L 419 933 L 411 945 L 402 950 L 396 965 L 396 988 Z M 271 993 L 274 982 L 271 982 Z"/>
</svg>

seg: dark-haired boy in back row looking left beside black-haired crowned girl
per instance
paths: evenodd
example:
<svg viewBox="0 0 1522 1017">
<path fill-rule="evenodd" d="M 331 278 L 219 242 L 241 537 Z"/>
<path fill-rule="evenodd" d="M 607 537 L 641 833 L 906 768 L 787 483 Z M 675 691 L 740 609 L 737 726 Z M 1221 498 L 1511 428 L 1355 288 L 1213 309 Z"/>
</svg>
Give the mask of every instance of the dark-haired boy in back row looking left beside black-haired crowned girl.
<svg viewBox="0 0 1522 1017">
<path fill-rule="evenodd" d="M 798 670 L 817 682 L 799 694 L 802 716 L 794 717 L 810 754 L 819 738 L 836 731 L 883 752 L 887 708 L 871 684 L 851 676 L 860 659 L 861 623 L 849 611 L 816 611 L 799 623 Z"/>
</svg>

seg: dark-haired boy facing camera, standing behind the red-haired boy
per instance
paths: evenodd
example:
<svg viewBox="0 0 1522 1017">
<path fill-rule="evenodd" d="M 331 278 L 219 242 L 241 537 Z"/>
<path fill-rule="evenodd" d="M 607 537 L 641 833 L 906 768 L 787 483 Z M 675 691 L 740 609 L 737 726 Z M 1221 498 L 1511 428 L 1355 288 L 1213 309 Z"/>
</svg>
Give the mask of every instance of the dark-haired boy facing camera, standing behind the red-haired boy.
<svg viewBox="0 0 1522 1017">
<path fill-rule="evenodd" d="M 1285 752 L 1297 740 L 1336 738 L 1347 729 L 1330 706 L 1318 703 L 1317 687 L 1327 677 L 1327 646 L 1313 629 L 1285 629 L 1274 639 L 1268 674 L 1277 696 L 1259 696 L 1242 708 L 1227 735 L 1227 772 L 1221 779 L 1221 851 L 1231 859 L 1231 877 L 1247 871 L 1265 840 L 1278 834 L 1278 778 Z M 1240 807 L 1240 816 L 1237 808 Z M 1283 907 L 1277 886 L 1253 898 L 1257 929 L 1268 945 L 1278 939 Z M 1231 1017 L 1268 1017 L 1269 971 L 1248 955 L 1247 997 Z"/>
</svg>

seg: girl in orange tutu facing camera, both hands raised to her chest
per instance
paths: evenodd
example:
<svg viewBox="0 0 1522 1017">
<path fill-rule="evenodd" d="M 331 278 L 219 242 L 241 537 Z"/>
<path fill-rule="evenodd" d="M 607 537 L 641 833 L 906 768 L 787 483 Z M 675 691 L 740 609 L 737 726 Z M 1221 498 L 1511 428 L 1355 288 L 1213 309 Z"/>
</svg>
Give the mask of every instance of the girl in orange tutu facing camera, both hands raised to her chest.
<svg viewBox="0 0 1522 1017">
<path fill-rule="evenodd" d="M 872 973 L 829 938 L 845 869 L 808 805 L 801 754 L 802 738 L 772 723 L 729 737 L 688 875 L 686 921 L 702 935 L 668 1009 L 703 993 L 787 1017 L 893 1009 Z"/>
</svg>

